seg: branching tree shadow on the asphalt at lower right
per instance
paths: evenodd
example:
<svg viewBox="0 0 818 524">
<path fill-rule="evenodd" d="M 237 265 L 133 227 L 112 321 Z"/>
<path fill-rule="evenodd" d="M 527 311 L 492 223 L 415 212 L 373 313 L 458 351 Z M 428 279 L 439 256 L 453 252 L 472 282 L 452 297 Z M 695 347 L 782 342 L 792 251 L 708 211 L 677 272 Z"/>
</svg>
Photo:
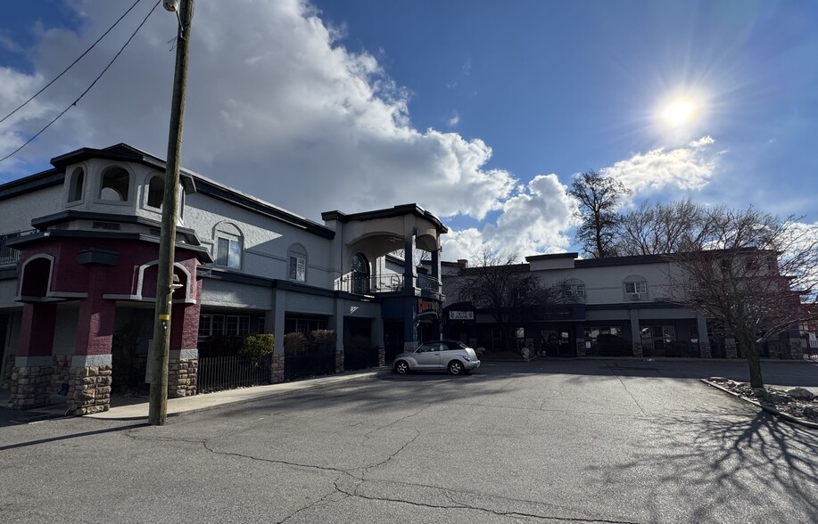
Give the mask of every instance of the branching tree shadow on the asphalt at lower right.
<svg viewBox="0 0 818 524">
<path fill-rule="evenodd" d="M 698 413 L 707 416 L 708 413 Z M 710 420 L 666 417 L 625 463 L 592 466 L 607 483 L 640 485 L 653 515 L 673 515 L 683 497 L 694 512 L 683 520 L 806 522 L 818 515 L 818 432 L 760 412 Z"/>
</svg>

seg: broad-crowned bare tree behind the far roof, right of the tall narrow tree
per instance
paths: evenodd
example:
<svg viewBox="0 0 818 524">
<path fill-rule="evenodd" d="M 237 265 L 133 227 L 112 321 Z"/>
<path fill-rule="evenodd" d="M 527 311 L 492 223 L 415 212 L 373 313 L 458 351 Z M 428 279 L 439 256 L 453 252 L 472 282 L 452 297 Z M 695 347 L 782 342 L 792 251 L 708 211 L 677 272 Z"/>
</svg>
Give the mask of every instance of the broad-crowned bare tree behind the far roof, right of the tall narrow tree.
<svg viewBox="0 0 818 524">
<path fill-rule="evenodd" d="M 651 205 L 643 203 L 622 217 L 616 251 L 619 255 L 664 255 L 681 246 L 698 245 L 711 233 L 710 212 L 690 199 Z"/>
</svg>

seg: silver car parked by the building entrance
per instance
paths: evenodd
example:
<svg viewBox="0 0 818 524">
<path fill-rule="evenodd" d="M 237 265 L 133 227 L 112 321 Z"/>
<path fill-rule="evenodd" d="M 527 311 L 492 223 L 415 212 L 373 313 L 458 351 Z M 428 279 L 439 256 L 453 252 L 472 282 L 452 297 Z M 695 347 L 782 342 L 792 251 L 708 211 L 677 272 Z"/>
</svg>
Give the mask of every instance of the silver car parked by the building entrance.
<svg viewBox="0 0 818 524">
<path fill-rule="evenodd" d="M 435 340 L 426 342 L 414 351 L 395 356 L 392 370 L 395 373 L 425 370 L 449 370 L 453 375 L 468 373 L 477 369 L 475 350 L 458 340 Z"/>
</svg>

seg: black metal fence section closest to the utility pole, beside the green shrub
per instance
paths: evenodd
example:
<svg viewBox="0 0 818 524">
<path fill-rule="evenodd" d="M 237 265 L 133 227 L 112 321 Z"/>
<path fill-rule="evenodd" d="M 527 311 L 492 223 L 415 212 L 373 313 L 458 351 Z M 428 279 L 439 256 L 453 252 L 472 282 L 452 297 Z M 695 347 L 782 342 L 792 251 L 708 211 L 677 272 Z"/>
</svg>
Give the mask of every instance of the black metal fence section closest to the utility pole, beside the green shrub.
<svg viewBox="0 0 818 524">
<path fill-rule="evenodd" d="M 272 383 L 272 356 L 205 356 L 199 358 L 196 389 L 209 393 Z"/>
</svg>

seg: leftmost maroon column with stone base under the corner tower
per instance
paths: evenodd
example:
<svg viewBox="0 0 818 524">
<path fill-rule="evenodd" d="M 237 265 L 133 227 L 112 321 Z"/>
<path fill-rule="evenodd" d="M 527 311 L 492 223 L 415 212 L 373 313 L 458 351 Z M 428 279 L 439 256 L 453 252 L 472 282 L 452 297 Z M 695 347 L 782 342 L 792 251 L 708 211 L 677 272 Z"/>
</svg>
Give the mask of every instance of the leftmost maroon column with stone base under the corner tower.
<svg viewBox="0 0 818 524">
<path fill-rule="evenodd" d="M 24 304 L 20 351 L 14 359 L 9 407 L 30 409 L 51 404 L 55 304 Z"/>
</svg>

